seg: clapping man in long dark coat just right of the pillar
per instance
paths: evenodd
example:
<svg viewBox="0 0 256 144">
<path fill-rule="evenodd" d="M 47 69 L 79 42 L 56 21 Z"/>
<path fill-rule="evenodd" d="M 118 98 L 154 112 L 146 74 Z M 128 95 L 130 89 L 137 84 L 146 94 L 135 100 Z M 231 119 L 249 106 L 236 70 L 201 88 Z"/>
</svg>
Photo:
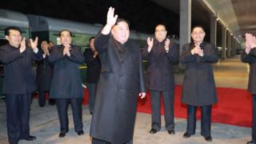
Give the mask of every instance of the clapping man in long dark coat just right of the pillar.
<svg viewBox="0 0 256 144">
<path fill-rule="evenodd" d="M 211 64 L 218 62 L 217 48 L 203 39 L 206 33 L 202 26 L 195 26 L 191 37 L 193 42 L 182 47 L 180 62 L 186 64 L 182 88 L 182 102 L 187 105 L 187 127 L 184 138 L 195 133 L 196 109 L 201 107 L 201 134 L 206 141 L 210 135 L 211 108 L 217 103 L 214 74 Z"/>
</svg>

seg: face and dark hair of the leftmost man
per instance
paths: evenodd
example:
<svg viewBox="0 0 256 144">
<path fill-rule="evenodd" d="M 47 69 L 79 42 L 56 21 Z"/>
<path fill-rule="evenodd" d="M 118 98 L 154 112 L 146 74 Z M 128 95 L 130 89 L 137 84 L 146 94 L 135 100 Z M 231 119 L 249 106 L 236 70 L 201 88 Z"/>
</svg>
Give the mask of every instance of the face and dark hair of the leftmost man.
<svg viewBox="0 0 256 144">
<path fill-rule="evenodd" d="M 6 35 L 6 39 L 11 46 L 18 47 L 22 42 L 22 34 L 18 30 L 9 30 L 9 35 Z"/>
</svg>

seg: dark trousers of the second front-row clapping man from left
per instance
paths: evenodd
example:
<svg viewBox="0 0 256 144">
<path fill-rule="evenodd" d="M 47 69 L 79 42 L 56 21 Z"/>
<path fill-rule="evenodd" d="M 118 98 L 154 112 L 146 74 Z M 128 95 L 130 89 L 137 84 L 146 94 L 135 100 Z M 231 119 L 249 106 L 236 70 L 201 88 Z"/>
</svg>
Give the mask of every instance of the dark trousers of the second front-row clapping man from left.
<svg viewBox="0 0 256 144">
<path fill-rule="evenodd" d="M 67 115 L 68 104 L 72 107 L 74 130 L 82 130 L 82 98 L 57 98 L 55 99 L 58 109 L 58 118 L 61 125 L 61 133 L 69 131 L 69 119 Z"/>
</svg>

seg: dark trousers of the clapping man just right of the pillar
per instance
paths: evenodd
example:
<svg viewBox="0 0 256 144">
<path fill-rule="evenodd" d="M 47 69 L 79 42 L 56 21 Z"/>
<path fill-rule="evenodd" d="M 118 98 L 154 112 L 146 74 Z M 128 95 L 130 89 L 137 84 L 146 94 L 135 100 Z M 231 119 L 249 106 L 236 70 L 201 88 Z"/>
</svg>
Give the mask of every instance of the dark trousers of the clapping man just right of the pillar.
<svg viewBox="0 0 256 144">
<path fill-rule="evenodd" d="M 196 128 L 196 111 L 198 106 L 187 105 L 187 126 L 186 132 L 188 134 L 194 134 Z M 201 107 L 201 135 L 204 137 L 210 136 L 211 126 L 211 105 L 200 106 Z"/>
</svg>

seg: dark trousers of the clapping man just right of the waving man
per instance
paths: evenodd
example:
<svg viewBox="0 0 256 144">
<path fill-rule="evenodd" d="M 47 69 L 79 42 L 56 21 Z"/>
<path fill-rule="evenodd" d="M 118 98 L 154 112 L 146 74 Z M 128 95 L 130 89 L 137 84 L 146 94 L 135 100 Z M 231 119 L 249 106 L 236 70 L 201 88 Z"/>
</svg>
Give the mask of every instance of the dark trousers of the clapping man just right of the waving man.
<svg viewBox="0 0 256 144">
<path fill-rule="evenodd" d="M 161 129 L 161 102 L 158 90 L 150 90 L 152 129 Z M 162 97 L 165 108 L 166 130 L 174 130 L 174 90 L 163 90 Z"/>
</svg>

